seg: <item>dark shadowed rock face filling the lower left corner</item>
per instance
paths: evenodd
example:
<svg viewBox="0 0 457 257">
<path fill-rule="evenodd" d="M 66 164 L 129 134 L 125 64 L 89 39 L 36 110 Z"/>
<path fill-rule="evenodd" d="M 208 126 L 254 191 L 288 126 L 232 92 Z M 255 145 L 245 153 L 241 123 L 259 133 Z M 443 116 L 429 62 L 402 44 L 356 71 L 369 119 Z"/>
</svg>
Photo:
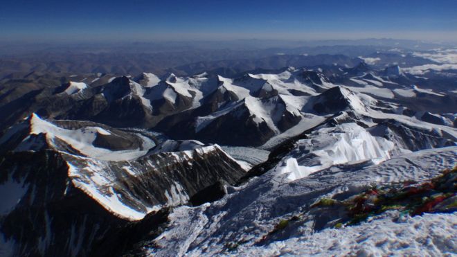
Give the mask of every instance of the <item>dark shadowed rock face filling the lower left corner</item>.
<svg viewBox="0 0 457 257">
<path fill-rule="evenodd" d="M 0 224 L 16 256 L 89 255 L 110 227 L 127 222 L 75 188 L 55 151 L 6 154 L 0 169 L 6 171 L 1 186 L 15 186 L 11 192 L 17 193 L 17 204 L 4 209 Z"/>
</svg>

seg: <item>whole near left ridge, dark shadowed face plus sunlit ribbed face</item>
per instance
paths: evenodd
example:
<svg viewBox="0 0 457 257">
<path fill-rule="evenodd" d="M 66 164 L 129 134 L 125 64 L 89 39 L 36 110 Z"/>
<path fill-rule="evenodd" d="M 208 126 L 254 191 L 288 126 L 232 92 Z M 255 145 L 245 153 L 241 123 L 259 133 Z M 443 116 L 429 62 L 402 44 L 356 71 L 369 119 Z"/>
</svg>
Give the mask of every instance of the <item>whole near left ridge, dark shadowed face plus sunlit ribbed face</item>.
<svg viewBox="0 0 457 257">
<path fill-rule="evenodd" d="M 215 181 L 234 184 L 244 175 L 219 148 L 108 163 L 42 150 L 9 153 L 0 163 L 6 171 L 0 186 L 13 185 L 21 194 L 1 215 L 1 231 L 15 242 L 17 255 L 87 255 L 111 227 L 160 208 L 153 206 L 185 204 Z M 96 184 L 96 177 L 110 181 Z"/>
</svg>

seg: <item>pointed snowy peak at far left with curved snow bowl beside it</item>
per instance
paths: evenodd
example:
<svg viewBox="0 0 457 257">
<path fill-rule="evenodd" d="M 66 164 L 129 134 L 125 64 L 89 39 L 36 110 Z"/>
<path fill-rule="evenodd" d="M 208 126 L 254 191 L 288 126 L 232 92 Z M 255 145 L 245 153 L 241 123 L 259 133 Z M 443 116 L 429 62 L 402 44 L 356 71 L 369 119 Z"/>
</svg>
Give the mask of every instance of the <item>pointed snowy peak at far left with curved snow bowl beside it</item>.
<svg viewBox="0 0 457 257">
<path fill-rule="evenodd" d="M 32 114 L 0 140 L 8 150 L 52 149 L 102 160 L 134 159 L 146 154 L 154 141 L 87 121 L 46 121 Z"/>
</svg>

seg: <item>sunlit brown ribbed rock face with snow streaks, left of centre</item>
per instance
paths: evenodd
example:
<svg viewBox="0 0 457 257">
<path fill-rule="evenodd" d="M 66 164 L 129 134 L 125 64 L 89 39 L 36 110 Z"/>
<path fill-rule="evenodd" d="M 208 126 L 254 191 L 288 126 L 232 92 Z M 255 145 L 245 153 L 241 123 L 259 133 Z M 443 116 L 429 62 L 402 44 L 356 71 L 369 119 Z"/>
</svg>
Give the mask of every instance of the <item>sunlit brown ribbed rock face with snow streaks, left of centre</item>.
<svg viewBox="0 0 457 257">
<path fill-rule="evenodd" d="M 129 217 L 127 209 L 118 212 L 129 219 L 141 218 L 149 209 L 185 204 L 192 195 L 219 179 L 235 184 L 244 175 L 238 163 L 217 146 L 161 152 L 131 161 L 100 161 L 70 155 L 64 158 L 69 161 L 70 174 L 79 188 L 89 195 L 99 193 L 98 202 L 107 209 L 112 206 L 104 194 L 114 192 L 127 209 L 133 210 L 133 217 Z M 97 183 L 96 177 L 104 181 Z"/>
</svg>

